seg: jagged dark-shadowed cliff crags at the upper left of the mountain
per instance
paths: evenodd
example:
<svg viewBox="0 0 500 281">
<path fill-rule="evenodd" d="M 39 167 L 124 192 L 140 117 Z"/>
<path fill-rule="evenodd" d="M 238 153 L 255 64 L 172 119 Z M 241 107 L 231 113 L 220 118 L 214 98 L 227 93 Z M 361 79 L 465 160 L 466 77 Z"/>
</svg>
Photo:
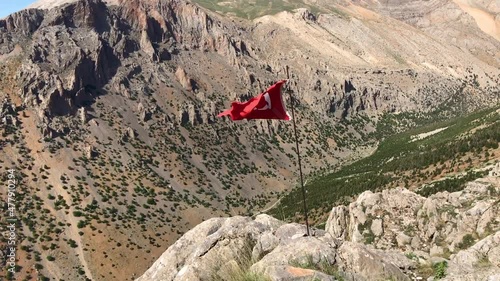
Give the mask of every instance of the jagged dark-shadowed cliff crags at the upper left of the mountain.
<svg viewBox="0 0 500 281">
<path fill-rule="evenodd" d="M 31 39 L 18 79 L 25 104 L 35 106 L 40 118 L 75 114 L 94 102 L 133 52 L 161 62 L 178 48 L 201 49 L 220 53 L 235 65 L 238 56 L 249 54 L 247 44 L 187 2 L 123 1 L 118 10 L 100 0 L 67 2 L 61 9 L 30 9 L 0 20 L 6 31 L 2 36 L 7 36 L 0 41 L 2 54 Z M 175 75 L 185 89 L 196 89 L 184 69 Z"/>
</svg>

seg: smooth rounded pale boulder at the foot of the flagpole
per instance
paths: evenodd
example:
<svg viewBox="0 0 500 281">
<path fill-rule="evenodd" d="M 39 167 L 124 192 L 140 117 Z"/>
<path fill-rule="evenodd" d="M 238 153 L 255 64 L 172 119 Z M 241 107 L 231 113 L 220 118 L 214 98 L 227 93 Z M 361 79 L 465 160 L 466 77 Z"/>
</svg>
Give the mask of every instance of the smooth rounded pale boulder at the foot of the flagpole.
<svg viewBox="0 0 500 281">
<path fill-rule="evenodd" d="M 321 230 L 314 233 L 305 237 L 303 225 L 285 224 L 267 215 L 254 220 L 210 219 L 187 232 L 137 280 L 231 280 L 228 276 L 241 271 L 271 280 L 368 281 L 374 276 L 410 280 L 382 252 L 334 239 Z"/>
</svg>

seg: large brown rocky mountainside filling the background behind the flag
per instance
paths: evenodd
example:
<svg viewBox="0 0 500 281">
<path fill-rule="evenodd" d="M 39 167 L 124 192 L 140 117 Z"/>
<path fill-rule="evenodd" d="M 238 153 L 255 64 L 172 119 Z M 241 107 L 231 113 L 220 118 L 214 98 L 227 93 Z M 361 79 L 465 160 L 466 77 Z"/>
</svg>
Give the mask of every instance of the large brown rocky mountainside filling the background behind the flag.
<svg viewBox="0 0 500 281">
<path fill-rule="evenodd" d="M 317 1 L 244 20 L 183 0 L 43 0 L 0 19 L 16 278 L 135 278 L 198 223 L 274 203 L 297 181 L 291 124 L 215 116 L 285 66 L 307 174 L 373 151 L 387 114 L 498 102 L 494 36 L 464 10 L 422 25 L 435 9 L 412 20 L 396 4 Z"/>
</svg>

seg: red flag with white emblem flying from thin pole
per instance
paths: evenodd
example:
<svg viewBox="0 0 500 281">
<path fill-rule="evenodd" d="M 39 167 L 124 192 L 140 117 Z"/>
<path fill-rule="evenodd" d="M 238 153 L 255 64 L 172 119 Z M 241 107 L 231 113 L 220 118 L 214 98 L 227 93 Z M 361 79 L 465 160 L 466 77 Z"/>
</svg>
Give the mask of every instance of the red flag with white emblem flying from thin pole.
<svg viewBox="0 0 500 281">
<path fill-rule="evenodd" d="M 272 85 L 264 93 L 246 102 L 232 102 L 231 108 L 217 115 L 229 115 L 231 120 L 242 119 L 282 119 L 290 120 L 281 96 L 281 86 L 286 80 Z"/>
</svg>

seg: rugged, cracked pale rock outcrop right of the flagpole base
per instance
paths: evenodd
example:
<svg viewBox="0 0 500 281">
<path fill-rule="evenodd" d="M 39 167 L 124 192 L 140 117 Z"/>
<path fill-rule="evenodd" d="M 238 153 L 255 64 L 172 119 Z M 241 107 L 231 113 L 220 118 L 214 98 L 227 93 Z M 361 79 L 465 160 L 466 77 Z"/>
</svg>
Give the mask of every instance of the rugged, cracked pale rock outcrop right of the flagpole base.
<svg viewBox="0 0 500 281">
<path fill-rule="evenodd" d="M 445 280 L 496 280 L 499 184 L 490 174 L 462 191 L 428 198 L 402 188 L 366 191 L 348 207 L 333 208 L 326 231 L 336 238 L 404 252 L 420 266 L 449 259 Z"/>
</svg>

